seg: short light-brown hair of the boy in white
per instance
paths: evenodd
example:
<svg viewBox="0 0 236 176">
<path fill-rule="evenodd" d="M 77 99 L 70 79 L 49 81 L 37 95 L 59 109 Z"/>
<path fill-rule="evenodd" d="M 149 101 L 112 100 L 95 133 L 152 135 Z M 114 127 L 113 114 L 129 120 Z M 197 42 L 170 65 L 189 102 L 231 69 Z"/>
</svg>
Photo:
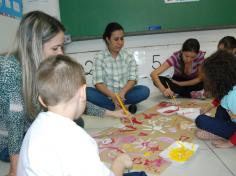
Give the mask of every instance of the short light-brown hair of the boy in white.
<svg viewBox="0 0 236 176">
<path fill-rule="evenodd" d="M 83 67 L 65 55 L 44 60 L 36 73 L 37 91 L 47 106 L 69 101 L 84 84 Z"/>
</svg>

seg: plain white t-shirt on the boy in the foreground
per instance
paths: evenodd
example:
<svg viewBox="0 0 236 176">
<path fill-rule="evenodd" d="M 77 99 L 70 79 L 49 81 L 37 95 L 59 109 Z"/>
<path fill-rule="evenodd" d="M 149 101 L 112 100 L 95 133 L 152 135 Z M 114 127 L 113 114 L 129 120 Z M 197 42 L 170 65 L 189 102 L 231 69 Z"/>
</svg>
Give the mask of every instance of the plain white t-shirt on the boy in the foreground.
<svg viewBox="0 0 236 176">
<path fill-rule="evenodd" d="M 102 163 L 98 147 L 69 118 L 41 112 L 25 135 L 18 176 L 113 176 Z"/>
</svg>

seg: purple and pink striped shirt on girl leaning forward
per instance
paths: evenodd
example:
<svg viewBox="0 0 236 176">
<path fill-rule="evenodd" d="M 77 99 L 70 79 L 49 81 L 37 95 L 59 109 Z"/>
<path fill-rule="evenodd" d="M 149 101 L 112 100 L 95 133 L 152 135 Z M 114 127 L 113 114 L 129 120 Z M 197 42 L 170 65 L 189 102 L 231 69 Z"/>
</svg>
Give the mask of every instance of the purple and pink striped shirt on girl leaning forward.
<svg viewBox="0 0 236 176">
<path fill-rule="evenodd" d="M 198 68 L 204 61 L 204 56 L 206 52 L 199 51 L 196 58 L 192 63 L 192 71 L 188 75 L 183 75 L 181 73 L 181 51 L 173 53 L 173 55 L 166 60 L 166 62 L 174 67 L 174 76 L 173 77 L 185 77 L 187 79 L 196 78 L 198 75 Z"/>
</svg>

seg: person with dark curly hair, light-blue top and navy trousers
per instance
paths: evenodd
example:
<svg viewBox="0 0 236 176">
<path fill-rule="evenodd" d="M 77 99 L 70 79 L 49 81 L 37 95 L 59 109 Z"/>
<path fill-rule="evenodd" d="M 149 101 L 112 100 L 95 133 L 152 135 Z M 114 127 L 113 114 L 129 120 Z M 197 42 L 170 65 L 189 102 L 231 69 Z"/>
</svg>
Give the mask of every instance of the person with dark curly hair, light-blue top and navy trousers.
<svg viewBox="0 0 236 176">
<path fill-rule="evenodd" d="M 219 50 L 202 66 L 205 90 L 220 101 L 215 118 L 202 114 L 197 117 L 196 132 L 201 139 L 212 139 L 216 147 L 236 145 L 236 58 Z M 235 135 L 234 135 L 235 133 Z"/>
</svg>

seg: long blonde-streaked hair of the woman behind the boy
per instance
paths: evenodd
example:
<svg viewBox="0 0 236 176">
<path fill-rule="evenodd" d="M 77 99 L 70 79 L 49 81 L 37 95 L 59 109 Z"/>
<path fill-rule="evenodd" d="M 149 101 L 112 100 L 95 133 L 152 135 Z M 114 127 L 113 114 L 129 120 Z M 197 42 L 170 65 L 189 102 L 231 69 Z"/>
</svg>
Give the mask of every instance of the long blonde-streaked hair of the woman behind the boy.
<svg viewBox="0 0 236 176">
<path fill-rule="evenodd" d="M 29 12 L 20 22 L 14 49 L 8 55 L 15 55 L 21 63 L 22 93 L 28 117 L 38 113 L 35 72 L 44 59 L 43 44 L 64 31 L 56 18 L 41 11 Z"/>
</svg>

